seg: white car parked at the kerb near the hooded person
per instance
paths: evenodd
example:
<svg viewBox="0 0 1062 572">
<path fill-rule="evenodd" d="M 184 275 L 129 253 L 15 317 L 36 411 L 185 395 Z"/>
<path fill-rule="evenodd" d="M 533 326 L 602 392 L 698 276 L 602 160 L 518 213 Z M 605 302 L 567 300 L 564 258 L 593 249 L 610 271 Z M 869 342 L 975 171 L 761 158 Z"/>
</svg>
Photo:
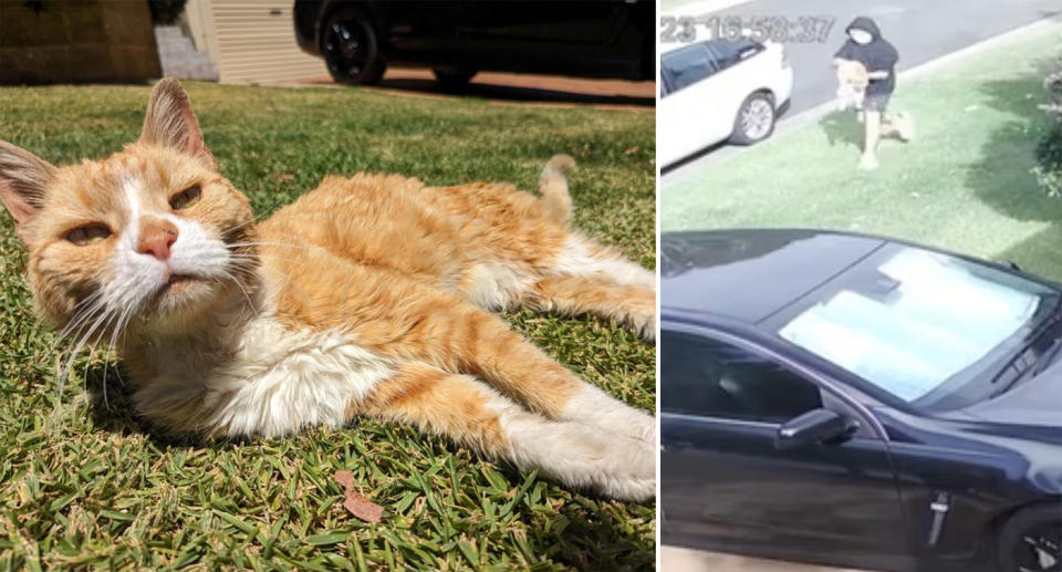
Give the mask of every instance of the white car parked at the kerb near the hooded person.
<svg viewBox="0 0 1062 572">
<path fill-rule="evenodd" d="M 669 165 L 709 145 L 750 145 L 774 132 L 793 91 L 781 44 L 751 39 L 685 44 L 660 55 L 657 156 Z"/>
</svg>

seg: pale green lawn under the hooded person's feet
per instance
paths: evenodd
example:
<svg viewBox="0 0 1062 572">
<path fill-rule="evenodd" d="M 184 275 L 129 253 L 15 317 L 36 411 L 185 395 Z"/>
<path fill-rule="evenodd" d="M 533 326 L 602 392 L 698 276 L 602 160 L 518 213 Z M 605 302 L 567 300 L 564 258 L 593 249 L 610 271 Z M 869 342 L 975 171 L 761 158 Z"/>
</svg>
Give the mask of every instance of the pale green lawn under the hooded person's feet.
<svg viewBox="0 0 1062 572">
<path fill-rule="evenodd" d="M 1041 82 L 1060 49 L 1062 25 L 1054 24 L 917 80 L 900 77 L 892 106 L 915 116 L 918 136 L 884 142 L 876 171 L 856 169 L 862 126 L 847 112 L 702 173 L 666 178 L 662 227 L 857 230 L 1062 279 L 1062 200 L 1048 198 L 1029 171 L 1049 127 L 1038 108 Z"/>
</svg>

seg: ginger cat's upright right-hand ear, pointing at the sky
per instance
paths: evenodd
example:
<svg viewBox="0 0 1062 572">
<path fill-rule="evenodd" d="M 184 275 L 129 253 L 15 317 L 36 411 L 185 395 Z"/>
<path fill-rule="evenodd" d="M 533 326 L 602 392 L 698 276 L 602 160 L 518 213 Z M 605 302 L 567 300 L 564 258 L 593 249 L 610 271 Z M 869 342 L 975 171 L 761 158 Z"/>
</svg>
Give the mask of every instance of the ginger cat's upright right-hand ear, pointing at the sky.
<svg viewBox="0 0 1062 572">
<path fill-rule="evenodd" d="M 202 141 L 202 131 L 191 112 L 188 94 L 173 77 L 163 77 L 152 90 L 139 141 L 194 155 L 211 169 L 218 167 Z"/>
</svg>

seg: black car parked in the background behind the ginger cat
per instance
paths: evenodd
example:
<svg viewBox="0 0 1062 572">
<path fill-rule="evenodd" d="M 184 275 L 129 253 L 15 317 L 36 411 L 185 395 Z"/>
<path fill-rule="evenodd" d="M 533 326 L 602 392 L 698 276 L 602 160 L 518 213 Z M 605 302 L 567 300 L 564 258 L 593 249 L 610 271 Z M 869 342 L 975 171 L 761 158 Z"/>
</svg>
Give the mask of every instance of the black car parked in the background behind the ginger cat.
<svg viewBox="0 0 1062 572">
<path fill-rule="evenodd" d="M 387 65 L 428 66 L 449 85 L 480 70 L 652 80 L 653 0 L 295 0 L 295 39 L 342 83 Z"/>
</svg>

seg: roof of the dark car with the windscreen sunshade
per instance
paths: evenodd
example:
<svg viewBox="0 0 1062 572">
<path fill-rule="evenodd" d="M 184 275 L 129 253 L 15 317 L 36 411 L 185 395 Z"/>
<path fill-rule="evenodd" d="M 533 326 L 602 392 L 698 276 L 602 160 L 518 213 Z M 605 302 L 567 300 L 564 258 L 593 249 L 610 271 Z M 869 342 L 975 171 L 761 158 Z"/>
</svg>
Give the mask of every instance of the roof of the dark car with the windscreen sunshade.
<svg viewBox="0 0 1062 572">
<path fill-rule="evenodd" d="M 888 242 L 824 230 L 667 232 L 660 308 L 754 325 Z"/>
</svg>

